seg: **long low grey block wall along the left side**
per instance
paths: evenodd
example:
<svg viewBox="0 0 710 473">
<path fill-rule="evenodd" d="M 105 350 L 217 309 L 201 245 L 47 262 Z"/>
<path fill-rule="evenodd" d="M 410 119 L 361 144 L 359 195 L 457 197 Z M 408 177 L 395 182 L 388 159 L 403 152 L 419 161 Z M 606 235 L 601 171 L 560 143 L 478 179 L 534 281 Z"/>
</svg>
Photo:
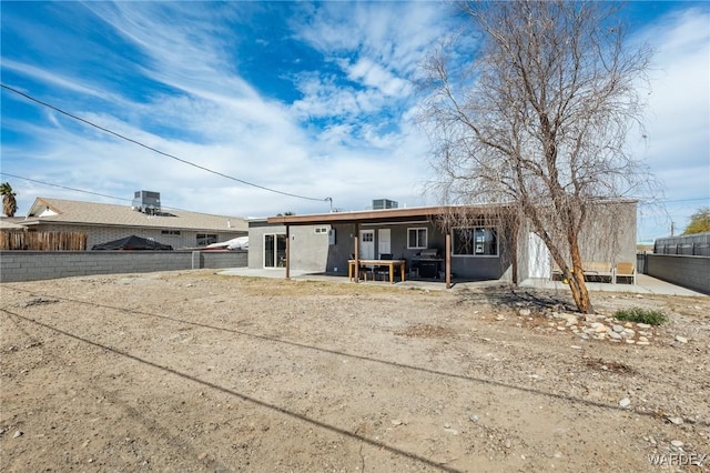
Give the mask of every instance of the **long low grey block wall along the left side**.
<svg viewBox="0 0 710 473">
<path fill-rule="evenodd" d="M 246 251 L 0 251 L 0 282 L 246 266 Z"/>
</svg>

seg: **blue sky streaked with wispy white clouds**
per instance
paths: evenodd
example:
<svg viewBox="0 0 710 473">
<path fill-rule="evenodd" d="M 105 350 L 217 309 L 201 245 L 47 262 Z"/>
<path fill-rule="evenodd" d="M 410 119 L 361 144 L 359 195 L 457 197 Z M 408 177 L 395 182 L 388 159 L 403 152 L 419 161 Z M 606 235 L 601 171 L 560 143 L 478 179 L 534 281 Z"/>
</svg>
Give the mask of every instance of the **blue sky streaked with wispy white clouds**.
<svg viewBox="0 0 710 473">
<path fill-rule="evenodd" d="M 0 3 L 2 83 L 244 185 L 2 90 L 2 182 L 18 215 L 37 197 L 264 217 L 438 203 L 414 85 L 456 29 L 417 2 Z M 710 205 L 710 7 L 631 2 L 633 41 L 655 49 L 647 138 L 630 145 L 665 187 L 640 205 L 639 240 Z"/>
</svg>

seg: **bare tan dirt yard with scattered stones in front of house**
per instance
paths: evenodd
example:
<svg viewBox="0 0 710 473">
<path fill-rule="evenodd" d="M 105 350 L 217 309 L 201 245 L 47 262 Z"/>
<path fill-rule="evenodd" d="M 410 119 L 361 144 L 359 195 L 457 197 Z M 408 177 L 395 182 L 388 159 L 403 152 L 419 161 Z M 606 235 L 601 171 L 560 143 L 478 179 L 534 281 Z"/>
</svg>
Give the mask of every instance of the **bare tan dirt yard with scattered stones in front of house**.
<svg viewBox="0 0 710 473">
<path fill-rule="evenodd" d="M 560 292 L 210 271 L 0 291 L 3 472 L 710 471 L 710 298 L 577 318 Z M 632 306 L 670 322 L 610 319 Z"/>
</svg>

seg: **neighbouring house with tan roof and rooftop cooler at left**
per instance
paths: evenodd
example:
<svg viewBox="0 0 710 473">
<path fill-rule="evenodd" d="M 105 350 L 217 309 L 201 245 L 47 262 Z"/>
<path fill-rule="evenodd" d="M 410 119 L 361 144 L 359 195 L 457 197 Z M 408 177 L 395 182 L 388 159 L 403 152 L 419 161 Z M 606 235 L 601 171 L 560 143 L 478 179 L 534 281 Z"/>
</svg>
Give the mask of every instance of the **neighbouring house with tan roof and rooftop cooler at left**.
<svg viewBox="0 0 710 473">
<path fill-rule="evenodd" d="M 144 205 L 139 194 L 154 199 Z M 135 197 L 139 201 L 133 205 L 37 198 L 27 217 L 14 223 L 27 231 L 84 232 L 88 250 L 130 235 L 153 239 L 175 250 L 201 249 L 246 235 L 247 224 L 241 218 L 161 209 L 156 192 L 139 191 Z"/>
</svg>

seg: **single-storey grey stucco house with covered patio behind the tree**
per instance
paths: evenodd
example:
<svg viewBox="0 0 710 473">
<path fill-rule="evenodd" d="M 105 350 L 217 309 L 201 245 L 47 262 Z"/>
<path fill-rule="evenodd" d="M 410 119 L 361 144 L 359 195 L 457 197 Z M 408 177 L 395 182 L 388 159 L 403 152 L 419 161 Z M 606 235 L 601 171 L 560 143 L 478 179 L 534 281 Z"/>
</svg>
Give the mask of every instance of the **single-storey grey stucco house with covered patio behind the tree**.
<svg viewBox="0 0 710 473">
<path fill-rule="evenodd" d="M 636 261 L 636 202 L 612 205 L 613 219 L 605 220 L 609 213 L 605 205 L 590 219 L 581 244 L 586 261 Z M 347 275 L 348 260 L 357 248 L 359 259 L 383 259 L 384 254 L 406 260 L 409 275 L 423 279 L 517 283 L 550 278 L 552 262 L 540 239 L 526 222 L 497 219 L 503 209 L 429 207 L 251 220 L 248 266 L 278 268 L 288 262 L 290 270 Z M 446 223 L 445 215 L 462 211 L 475 223 Z M 621 221 L 623 228 L 619 229 Z M 620 231 L 609 245 L 612 228 Z M 416 271 L 410 272 L 413 268 Z"/>
</svg>

